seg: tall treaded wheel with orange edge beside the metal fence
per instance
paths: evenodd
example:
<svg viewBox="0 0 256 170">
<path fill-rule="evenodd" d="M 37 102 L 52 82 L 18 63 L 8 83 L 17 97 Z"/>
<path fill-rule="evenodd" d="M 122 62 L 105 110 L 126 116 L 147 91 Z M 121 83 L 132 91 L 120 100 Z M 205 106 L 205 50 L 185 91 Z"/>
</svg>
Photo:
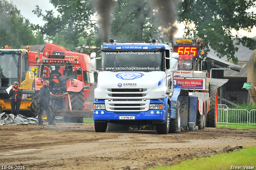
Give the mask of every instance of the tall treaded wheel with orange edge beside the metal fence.
<svg viewBox="0 0 256 170">
<path fill-rule="evenodd" d="M 207 116 L 207 127 L 216 128 L 218 118 L 218 93 L 216 86 L 210 86 L 210 110 Z"/>
</svg>

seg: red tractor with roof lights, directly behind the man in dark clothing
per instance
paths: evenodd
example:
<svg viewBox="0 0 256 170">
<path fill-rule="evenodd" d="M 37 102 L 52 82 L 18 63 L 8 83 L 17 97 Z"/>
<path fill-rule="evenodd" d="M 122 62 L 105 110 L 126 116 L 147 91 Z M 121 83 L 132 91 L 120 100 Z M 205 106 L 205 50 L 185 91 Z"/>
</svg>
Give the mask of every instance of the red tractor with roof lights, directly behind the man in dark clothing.
<svg viewBox="0 0 256 170">
<path fill-rule="evenodd" d="M 38 94 L 45 80 L 50 82 L 50 104 L 56 116 L 72 118 L 83 122 L 90 115 L 90 110 L 84 110 L 84 83 L 77 80 L 74 74 L 75 60 L 65 59 L 64 55 L 49 55 L 46 59 L 38 59 L 39 73 L 34 81 L 35 94 Z M 62 75 L 51 74 L 57 70 Z M 62 78 L 65 77 L 65 78 Z"/>
</svg>

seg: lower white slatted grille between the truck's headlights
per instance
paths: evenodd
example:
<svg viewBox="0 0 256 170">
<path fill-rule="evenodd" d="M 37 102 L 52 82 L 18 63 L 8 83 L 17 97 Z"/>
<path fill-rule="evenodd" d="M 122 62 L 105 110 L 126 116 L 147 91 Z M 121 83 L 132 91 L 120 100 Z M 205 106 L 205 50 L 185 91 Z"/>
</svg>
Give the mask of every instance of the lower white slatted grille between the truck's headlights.
<svg viewBox="0 0 256 170">
<path fill-rule="evenodd" d="M 105 106 L 106 110 L 109 112 L 142 112 L 148 111 L 150 99 L 140 99 L 140 100 L 115 100 L 115 99 L 106 99 Z"/>
</svg>

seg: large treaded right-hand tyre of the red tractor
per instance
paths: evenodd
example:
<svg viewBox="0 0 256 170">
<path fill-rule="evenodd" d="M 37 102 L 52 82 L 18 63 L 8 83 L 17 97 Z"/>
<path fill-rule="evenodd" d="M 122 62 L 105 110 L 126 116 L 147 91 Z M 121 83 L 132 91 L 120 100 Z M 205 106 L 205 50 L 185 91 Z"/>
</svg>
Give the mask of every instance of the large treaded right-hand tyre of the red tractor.
<svg viewBox="0 0 256 170">
<path fill-rule="evenodd" d="M 80 92 L 68 92 L 72 110 L 84 110 L 84 89 Z M 81 115 L 82 116 L 82 115 Z M 64 117 L 65 122 L 83 123 L 84 117 Z"/>
</svg>

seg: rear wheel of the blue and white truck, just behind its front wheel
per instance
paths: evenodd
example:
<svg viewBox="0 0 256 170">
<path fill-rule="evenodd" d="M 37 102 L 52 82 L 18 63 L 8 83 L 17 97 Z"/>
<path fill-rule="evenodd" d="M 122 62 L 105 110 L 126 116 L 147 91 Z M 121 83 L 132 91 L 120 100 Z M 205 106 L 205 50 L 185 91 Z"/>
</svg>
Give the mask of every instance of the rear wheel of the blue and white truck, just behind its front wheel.
<svg viewBox="0 0 256 170">
<path fill-rule="evenodd" d="M 170 130 L 169 133 L 180 133 L 181 129 L 181 110 L 180 110 L 180 102 L 177 101 L 177 107 L 176 107 L 176 118 L 171 119 L 170 121 Z"/>
</svg>

